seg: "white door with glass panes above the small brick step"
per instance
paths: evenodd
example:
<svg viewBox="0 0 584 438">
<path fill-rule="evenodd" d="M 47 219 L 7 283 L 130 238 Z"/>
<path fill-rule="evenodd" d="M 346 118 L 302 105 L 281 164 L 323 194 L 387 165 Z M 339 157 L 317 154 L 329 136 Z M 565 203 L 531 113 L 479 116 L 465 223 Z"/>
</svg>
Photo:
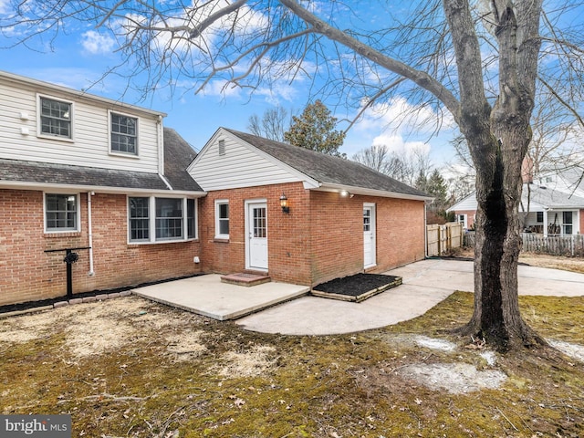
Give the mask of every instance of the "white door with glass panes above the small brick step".
<svg viewBox="0 0 584 438">
<path fill-rule="evenodd" d="M 267 204 L 247 204 L 247 268 L 267 270 Z"/>
</svg>

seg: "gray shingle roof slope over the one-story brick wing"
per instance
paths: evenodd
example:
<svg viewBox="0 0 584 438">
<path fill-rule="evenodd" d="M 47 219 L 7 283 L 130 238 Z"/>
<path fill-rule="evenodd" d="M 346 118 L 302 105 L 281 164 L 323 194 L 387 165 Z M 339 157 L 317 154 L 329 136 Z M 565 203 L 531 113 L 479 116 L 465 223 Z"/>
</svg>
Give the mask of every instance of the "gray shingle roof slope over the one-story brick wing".
<svg viewBox="0 0 584 438">
<path fill-rule="evenodd" d="M 376 172 L 358 162 L 351 162 L 339 157 L 333 157 L 324 153 L 309 151 L 287 143 L 271 141 L 252 134 L 229 130 L 236 137 L 255 146 L 260 151 L 272 155 L 288 166 L 304 173 L 319 183 L 339 184 L 362 189 L 380 190 L 391 193 L 403 193 L 412 196 L 430 198 L 407 184 Z"/>
</svg>

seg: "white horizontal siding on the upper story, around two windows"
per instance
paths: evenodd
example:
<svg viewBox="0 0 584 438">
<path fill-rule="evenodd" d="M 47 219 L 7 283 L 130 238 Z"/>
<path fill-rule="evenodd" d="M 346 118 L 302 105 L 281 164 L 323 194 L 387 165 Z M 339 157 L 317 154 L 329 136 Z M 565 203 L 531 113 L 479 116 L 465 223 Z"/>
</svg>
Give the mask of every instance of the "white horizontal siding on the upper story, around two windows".
<svg viewBox="0 0 584 438">
<path fill-rule="evenodd" d="M 73 103 L 72 140 L 59 141 L 38 135 L 38 96 Z M 110 110 L 138 118 L 138 160 L 110 153 Z M 121 105 L 117 108 L 90 96 L 59 94 L 55 89 L 40 92 L 30 84 L 8 82 L 0 75 L 0 126 L 3 127 L 0 158 L 156 173 L 159 171 L 159 142 L 162 138 L 158 123 L 155 114 L 140 110 L 132 112 Z"/>
</svg>

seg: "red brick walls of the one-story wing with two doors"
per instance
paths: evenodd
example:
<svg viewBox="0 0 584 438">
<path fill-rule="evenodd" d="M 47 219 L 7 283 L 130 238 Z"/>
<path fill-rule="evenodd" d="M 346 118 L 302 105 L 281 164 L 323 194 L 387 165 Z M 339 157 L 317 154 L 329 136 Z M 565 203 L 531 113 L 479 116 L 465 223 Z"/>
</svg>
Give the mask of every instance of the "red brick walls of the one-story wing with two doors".
<svg viewBox="0 0 584 438">
<path fill-rule="evenodd" d="M 283 214 L 284 192 L 290 213 Z M 214 239 L 214 201 L 229 200 L 229 241 Z M 208 193 L 201 200 L 203 270 L 245 270 L 245 200 L 267 200 L 268 274 L 276 281 L 314 286 L 363 271 L 363 203 L 375 203 L 377 266 L 374 272 L 424 257 L 423 203 L 311 192 L 301 183 Z"/>
</svg>

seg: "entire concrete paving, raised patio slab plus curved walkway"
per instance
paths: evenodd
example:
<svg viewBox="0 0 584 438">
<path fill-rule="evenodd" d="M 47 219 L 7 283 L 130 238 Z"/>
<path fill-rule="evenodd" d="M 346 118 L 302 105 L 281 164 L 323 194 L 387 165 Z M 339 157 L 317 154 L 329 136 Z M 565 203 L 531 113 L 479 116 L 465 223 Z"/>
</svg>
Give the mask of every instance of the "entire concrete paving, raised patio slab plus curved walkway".
<svg viewBox="0 0 584 438">
<path fill-rule="evenodd" d="M 132 292 L 242 328 L 287 335 L 330 335 L 381 328 L 419 317 L 454 290 L 473 291 L 473 262 L 428 259 L 386 272 L 403 284 L 361 303 L 309 297 L 308 287 L 265 283 L 242 287 L 220 276 L 193 276 Z M 519 266 L 519 294 L 584 296 L 584 274 Z M 243 318 L 242 318 L 243 317 Z"/>
</svg>

